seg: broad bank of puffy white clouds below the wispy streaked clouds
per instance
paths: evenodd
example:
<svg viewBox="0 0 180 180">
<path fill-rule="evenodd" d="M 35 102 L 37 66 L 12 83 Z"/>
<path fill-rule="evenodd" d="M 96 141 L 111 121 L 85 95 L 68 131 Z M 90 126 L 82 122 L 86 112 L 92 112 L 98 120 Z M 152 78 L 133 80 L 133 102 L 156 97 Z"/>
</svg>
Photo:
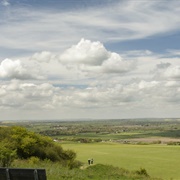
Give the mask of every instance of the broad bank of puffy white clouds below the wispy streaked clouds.
<svg viewBox="0 0 180 180">
<path fill-rule="evenodd" d="M 81 39 L 62 53 L 36 52 L 24 60 L 26 64 L 5 59 L 0 65 L 0 110 L 37 117 L 50 113 L 53 118 L 85 118 L 92 112 L 95 118 L 103 112 L 112 118 L 151 116 L 152 112 L 158 117 L 159 112 L 177 116 L 179 59 L 153 52 L 137 54 L 120 55 L 99 41 Z M 35 74 L 29 67 L 39 70 Z M 37 78 L 45 72 L 44 79 Z"/>
</svg>

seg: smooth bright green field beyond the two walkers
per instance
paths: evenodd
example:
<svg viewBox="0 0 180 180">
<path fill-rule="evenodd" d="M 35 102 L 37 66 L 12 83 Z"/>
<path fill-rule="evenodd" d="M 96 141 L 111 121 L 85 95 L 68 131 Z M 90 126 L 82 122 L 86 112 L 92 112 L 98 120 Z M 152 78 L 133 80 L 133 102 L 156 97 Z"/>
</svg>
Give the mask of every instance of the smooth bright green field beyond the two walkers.
<svg viewBox="0 0 180 180">
<path fill-rule="evenodd" d="M 73 149 L 77 159 L 87 164 L 94 163 L 137 170 L 145 168 L 150 176 L 163 179 L 180 179 L 180 146 L 130 145 L 117 143 L 68 143 L 65 149 Z"/>
</svg>

